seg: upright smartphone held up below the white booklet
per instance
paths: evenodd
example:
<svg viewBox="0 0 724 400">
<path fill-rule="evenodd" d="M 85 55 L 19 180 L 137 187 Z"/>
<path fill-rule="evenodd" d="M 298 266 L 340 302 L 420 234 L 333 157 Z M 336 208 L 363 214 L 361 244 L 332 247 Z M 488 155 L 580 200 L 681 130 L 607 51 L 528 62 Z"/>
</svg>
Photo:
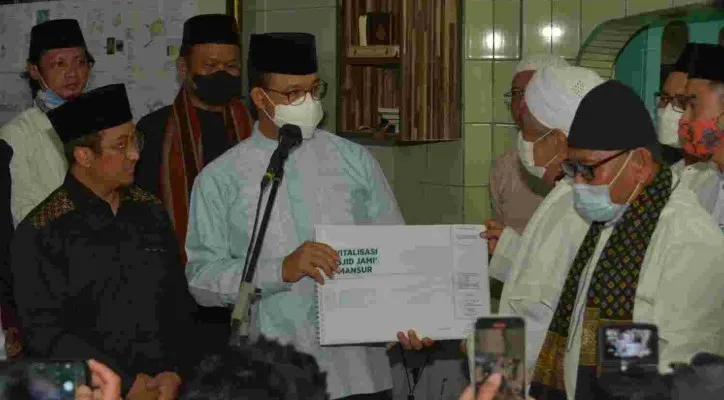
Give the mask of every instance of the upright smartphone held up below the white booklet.
<svg viewBox="0 0 724 400">
<path fill-rule="evenodd" d="M 494 373 L 503 375 L 501 394 L 525 398 L 525 321 L 519 317 L 483 317 L 475 322 L 468 352 L 471 380 L 478 388 Z"/>
</svg>

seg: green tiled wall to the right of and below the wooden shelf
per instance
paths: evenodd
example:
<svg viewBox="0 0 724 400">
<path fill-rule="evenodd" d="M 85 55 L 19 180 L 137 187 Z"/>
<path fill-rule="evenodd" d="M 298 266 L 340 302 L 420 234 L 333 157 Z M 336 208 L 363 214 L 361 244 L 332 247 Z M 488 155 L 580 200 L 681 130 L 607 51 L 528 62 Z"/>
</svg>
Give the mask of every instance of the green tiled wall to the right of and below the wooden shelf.
<svg viewBox="0 0 724 400">
<path fill-rule="evenodd" d="M 409 223 L 481 223 L 489 218 L 493 161 L 515 147 L 503 102 L 521 56 L 574 59 L 596 25 L 695 0 L 465 0 L 463 139 L 396 149 L 394 181 Z"/>
</svg>

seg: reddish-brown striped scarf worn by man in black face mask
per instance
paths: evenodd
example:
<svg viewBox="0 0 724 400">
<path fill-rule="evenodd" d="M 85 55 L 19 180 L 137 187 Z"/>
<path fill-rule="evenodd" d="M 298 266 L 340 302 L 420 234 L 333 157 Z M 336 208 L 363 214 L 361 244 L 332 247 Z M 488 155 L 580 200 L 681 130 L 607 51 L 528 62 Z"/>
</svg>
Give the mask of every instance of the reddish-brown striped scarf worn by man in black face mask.
<svg viewBox="0 0 724 400">
<path fill-rule="evenodd" d="M 159 193 L 173 221 L 185 264 L 191 189 L 196 175 L 211 160 L 204 160 L 201 123 L 185 90 L 179 91 L 171 109 L 163 138 Z M 238 100 L 224 107 L 224 125 L 232 145 L 251 136 L 249 113 Z"/>
</svg>

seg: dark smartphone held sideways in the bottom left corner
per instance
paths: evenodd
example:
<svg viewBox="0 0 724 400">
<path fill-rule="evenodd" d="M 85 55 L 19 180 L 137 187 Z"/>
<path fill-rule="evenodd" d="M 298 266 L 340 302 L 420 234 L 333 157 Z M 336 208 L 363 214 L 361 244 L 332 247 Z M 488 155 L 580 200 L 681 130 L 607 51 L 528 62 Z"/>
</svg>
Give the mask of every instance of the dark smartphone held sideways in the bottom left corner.
<svg viewBox="0 0 724 400">
<path fill-rule="evenodd" d="M 74 400 L 89 383 L 85 360 L 22 360 L 0 364 L 0 398 Z"/>
</svg>

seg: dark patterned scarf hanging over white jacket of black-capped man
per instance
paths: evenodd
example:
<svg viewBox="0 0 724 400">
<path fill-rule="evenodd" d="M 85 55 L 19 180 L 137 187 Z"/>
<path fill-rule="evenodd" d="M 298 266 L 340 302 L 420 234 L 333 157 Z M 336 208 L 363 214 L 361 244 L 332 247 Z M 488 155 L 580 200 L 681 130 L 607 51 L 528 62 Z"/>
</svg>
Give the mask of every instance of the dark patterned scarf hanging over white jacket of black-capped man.
<svg viewBox="0 0 724 400">
<path fill-rule="evenodd" d="M 583 317 L 576 399 L 593 398 L 598 328 L 633 320 L 641 266 L 661 210 L 671 196 L 671 184 L 671 169 L 664 166 L 616 223 L 596 263 Z M 530 395 L 537 400 L 568 399 L 564 359 L 571 318 L 583 271 L 593 257 L 604 226 L 600 222 L 591 224 L 568 271 L 531 382 Z"/>
</svg>

